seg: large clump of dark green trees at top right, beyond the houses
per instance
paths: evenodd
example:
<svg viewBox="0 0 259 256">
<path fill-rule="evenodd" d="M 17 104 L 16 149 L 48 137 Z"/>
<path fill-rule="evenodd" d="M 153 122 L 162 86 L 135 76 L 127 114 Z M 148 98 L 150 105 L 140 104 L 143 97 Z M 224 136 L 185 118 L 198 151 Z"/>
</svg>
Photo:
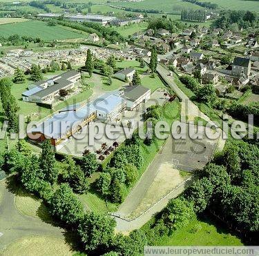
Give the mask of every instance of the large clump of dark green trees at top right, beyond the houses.
<svg viewBox="0 0 259 256">
<path fill-rule="evenodd" d="M 229 29 L 232 24 L 237 24 L 239 28 L 256 27 L 258 14 L 244 10 L 224 10 L 220 12 L 220 17 L 214 21 L 213 26 Z"/>
</svg>

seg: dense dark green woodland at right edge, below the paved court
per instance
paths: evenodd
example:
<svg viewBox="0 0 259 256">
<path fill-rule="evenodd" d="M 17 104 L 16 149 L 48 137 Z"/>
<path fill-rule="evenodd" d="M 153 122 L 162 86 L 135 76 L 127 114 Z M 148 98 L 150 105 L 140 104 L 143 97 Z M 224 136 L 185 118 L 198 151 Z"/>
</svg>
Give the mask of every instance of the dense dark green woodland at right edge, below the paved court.
<svg viewBox="0 0 259 256">
<path fill-rule="evenodd" d="M 222 153 L 204 168 L 186 197 L 196 213 L 212 210 L 246 232 L 259 229 L 259 147 L 227 141 Z"/>
</svg>

